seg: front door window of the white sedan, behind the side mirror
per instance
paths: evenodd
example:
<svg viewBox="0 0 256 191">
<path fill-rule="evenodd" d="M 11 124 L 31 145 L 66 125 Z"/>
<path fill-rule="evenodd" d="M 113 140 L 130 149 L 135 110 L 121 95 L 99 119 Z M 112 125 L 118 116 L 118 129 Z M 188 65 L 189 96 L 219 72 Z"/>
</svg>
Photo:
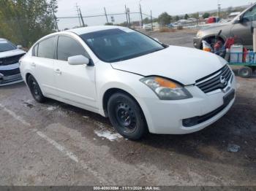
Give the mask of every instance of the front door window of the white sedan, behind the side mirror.
<svg viewBox="0 0 256 191">
<path fill-rule="evenodd" d="M 67 58 L 74 55 L 84 55 L 89 58 L 88 53 L 82 45 L 69 36 L 59 36 L 57 47 L 57 59 L 67 61 Z"/>
</svg>

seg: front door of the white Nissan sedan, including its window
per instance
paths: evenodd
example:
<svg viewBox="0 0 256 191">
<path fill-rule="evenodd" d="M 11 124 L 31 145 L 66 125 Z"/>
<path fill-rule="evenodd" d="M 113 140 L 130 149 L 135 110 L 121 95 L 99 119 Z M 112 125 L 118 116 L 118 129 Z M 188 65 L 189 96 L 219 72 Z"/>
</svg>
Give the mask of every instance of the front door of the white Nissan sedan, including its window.
<svg viewBox="0 0 256 191">
<path fill-rule="evenodd" d="M 61 35 L 58 37 L 56 52 L 54 75 L 58 94 L 69 102 L 96 111 L 95 67 L 72 66 L 67 62 L 67 58 L 74 55 L 90 58 L 85 48 L 72 36 Z"/>
</svg>

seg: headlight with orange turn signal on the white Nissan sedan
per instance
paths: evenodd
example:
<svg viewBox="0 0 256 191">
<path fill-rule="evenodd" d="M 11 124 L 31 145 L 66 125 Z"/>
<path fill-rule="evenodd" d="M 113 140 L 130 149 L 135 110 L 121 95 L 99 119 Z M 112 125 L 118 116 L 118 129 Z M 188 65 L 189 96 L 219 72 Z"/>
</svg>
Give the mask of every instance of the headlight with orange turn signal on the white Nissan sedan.
<svg viewBox="0 0 256 191">
<path fill-rule="evenodd" d="M 180 100 L 192 98 L 192 95 L 181 85 L 162 77 L 145 77 L 140 79 L 146 84 L 154 93 L 157 94 L 161 100 Z"/>
</svg>

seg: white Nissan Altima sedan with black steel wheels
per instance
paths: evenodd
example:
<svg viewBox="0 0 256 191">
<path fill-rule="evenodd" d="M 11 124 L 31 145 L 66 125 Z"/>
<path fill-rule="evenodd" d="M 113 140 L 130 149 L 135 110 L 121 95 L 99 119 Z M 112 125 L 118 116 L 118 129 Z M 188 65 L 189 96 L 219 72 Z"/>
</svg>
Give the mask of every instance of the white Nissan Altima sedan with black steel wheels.
<svg viewBox="0 0 256 191">
<path fill-rule="evenodd" d="M 236 79 L 212 53 L 168 46 L 118 26 L 61 31 L 20 61 L 36 101 L 53 98 L 109 117 L 118 133 L 192 133 L 228 112 Z"/>
</svg>

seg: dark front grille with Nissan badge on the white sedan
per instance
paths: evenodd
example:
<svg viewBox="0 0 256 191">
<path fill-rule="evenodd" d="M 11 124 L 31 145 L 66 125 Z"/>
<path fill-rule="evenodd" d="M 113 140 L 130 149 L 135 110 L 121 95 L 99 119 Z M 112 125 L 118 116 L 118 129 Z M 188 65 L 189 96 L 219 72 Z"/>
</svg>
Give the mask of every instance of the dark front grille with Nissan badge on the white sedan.
<svg viewBox="0 0 256 191">
<path fill-rule="evenodd" d="M 222 69 L 215 71 L 213 74 L 198 79 L 195 85 L 197 85 L 197 87 L 199 87 L 204 93 L 209 93 L 214 90 L 224 89 L 227 87 L 231 77 L 232 72 L 226 65 Z"/>
</svg>

